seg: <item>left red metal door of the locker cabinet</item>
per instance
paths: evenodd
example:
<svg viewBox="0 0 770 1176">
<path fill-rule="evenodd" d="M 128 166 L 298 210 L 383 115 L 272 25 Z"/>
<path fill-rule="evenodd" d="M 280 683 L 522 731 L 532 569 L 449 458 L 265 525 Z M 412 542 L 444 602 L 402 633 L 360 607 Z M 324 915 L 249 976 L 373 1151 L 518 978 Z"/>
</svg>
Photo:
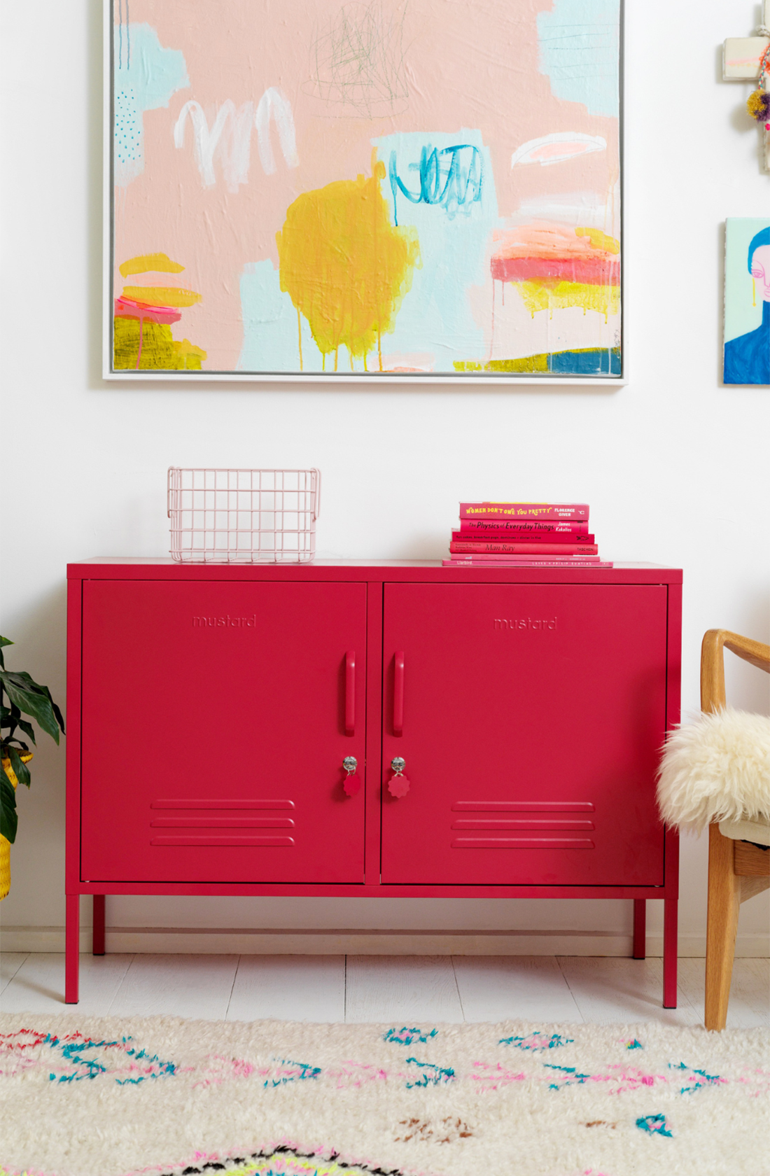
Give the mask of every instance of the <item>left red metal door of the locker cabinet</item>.
<svg viewBox="0 0 770 1176">
<path fill-rule="evenodd" d="M 363 881 L 366 590 L 85 582 L 85 880 Z"/>
</svg>

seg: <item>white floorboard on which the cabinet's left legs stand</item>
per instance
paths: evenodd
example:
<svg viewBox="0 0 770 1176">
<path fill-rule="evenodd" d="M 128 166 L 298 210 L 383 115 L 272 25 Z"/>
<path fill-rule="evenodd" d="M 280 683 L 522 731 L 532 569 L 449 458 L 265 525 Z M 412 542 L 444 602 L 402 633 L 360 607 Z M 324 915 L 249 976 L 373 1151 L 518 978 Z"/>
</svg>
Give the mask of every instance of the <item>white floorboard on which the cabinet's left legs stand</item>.
<svg viewBox="0 0 770 1176">
<path fill-rule="evenodd" d="M 0 1013 L 74 1013 L 107 1016 L 132 956 L 80 957 L 80 1001 L 65 1004 L 63 951 L 32 951 L 0 993 Z"/>
</svg>

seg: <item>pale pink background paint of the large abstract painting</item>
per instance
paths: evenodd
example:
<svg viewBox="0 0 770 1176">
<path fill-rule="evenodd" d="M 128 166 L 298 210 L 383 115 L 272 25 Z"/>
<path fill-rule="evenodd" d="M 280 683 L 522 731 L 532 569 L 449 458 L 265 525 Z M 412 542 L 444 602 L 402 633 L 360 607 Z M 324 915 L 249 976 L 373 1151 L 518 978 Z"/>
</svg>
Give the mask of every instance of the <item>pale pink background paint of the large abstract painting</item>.
<svg viewBox="0 0 770 1176">
<path fill-rule="evenodd" d="M 364 9 L 363 5 L 354 7 Z M 205 370 L 236 370 L 243 345 L 240 283 L 246 267 L 269 260 L 277 269 L 275 236 L 289 205 L 302 193 L 335 180 L 370 175 L 373 140 L 394 131 L 417 132 L 428 141 L 437 132 L 476 129 L 490 152 L 501 226 L 515 223 L 524 205 L 541 201 L 548 206 L 570 193 L 589 193 L 596 208 L 589 223 L 615 232 L 620 209 L 617 119 L 591 115 L 580 102 L 562 101 L 553 93 L 550 79 L 540 72 L 537 16 L 551 7 L 553 0 L 516 5 L 508 0 L 456 0 L 451 5 L 383 0 L 383 21 L 401 21 L 403 16 L 403 85 L 401 75 L 391 79 L 393 109 L 383 113 L 377 105 L 369 118 L 366 94 L 354 89 L 347 105 L 340 106 L 326 74 L 321 83 L 314 78 L 314 46 L 339 19 L 339 0 L 282 0 L 277 8 L 267 0 L 226 0 L 223 5 L 210 0 L 132 0 L 132 22 L 147 22 L 162 47 L 183 54 L 189 87 L 173 94 L 167 107 L 142 115 L 143 171 L 115 192 L 115 289 L 122 289 L 123 281 L 118 267 L 129 258 L 162 252 L 183 265 L 186 283 L 202 295 L 200 303 L 185 309 L 183 334 L 208 353 Z M 461 82 L 455 85 L 453 78 Z M 296 160 L 290 152 L 284 153 L 274 119 L 268 131 L 270 151 L 260 153 L 255 121 L 268 89 L 280 91 L 290 105 L 299 166 L 293 166 Z M 351 101 L 357 102 L 357 109 L 350 108 Z M 183 143 L 175 146 L 175 128 L 187 102 L 199 103 L 207 122 L 206 132 L 200 125 L 200 146 L 210 158 L 205 174 L 189 118 Z M 227 111 L 235 113 L 227 114 L 227 102 L 233 103 Z M 254 107 L 250 136 L 239 138 L 248 119 L 243 114 L 239 121 L 237 112 L 247 103 Z M 221 134 L 215 143 L 221 112 Z M 607 149 L 576 153 L 548 167 L 511 169 L 516 145 L 544 132 L 601 136 Z M 563 152 L 564 146 L 560 143 L 558 149 Z M 388 191 L 387 181 L 384 188 Z M 436 208 L 435 215 L 446 213 Z M 488 258 L 480 259 L 480 267 L 482 262 L 483 281 L 469 285 L 467 298 L 473 320 L 483 332 L 484 354 L 457 358 L 484 360 L 493 347 L 497 354 L 498 341 L 503 355 L 544 349 L 541 343 L 545 340 L 540 338 L 544 328 L 533 322 L 529 312 L 510 332 L 501 315 L 493 341 L 495 279 Z M 407 300 L 401 313 L 408 314 Z M 600 316 L 585 316 L 581 310 L 573 318 L 560 310 L 553 329 L 565 328 L 568 345 L 590 346 L 591 318 Z M 602 336 L 610 342 L 611 330 L 610 326 Z M 407 347 L 388 348 L 383 339 L 386 353 L 395 349 Z M 414 348 L 408 347 L 413 349 L 421 353 L 419 361 L 390 356 L 389 370 L 431 370 L 422 353 L 434 350 L 435 341 L 416 341 Z"/>
</svg>

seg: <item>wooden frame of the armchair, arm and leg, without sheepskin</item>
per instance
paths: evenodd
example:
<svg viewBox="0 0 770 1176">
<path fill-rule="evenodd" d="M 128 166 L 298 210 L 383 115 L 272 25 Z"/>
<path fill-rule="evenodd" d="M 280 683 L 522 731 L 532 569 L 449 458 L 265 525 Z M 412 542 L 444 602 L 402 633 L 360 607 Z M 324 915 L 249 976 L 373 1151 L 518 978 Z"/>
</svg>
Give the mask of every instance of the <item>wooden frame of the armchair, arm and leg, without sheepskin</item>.
<svg viewBox="0 0 770 1176">
<path fill-rule="evenodd" d="M 701 709 L 721 709 L 724 697 L 724 649 L 770 673 L 770 646 L 727 629 L 709 629 L 701 650 Z M 723 829 L 725 822 L 722 822 Z M 729 828 L 729 826 L 728 826 Z M 770 842 L 770 826 L 765 827 Z M 764 831 L 764 830 L 763 830 Z M 709 826 L 709 908 L 705 940 L 705 1028 L 724 1029 L 738 929 L 738 907 L 770 887 L 770 850 L 762 850 L 734 829 L 725 836 L 719 824 Z"/>
</svg>

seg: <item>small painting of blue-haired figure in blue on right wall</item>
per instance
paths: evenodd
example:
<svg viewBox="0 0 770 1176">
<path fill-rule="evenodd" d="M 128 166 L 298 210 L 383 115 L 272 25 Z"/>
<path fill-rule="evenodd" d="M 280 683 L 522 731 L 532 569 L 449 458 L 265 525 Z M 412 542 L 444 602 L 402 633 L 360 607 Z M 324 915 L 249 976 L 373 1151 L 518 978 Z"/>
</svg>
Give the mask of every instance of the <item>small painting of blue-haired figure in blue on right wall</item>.
<svg viewBox="0 0 770 1176">
<path fill-rule="evenodd" d="M 770 383 L 770 220 L 763 218 L 727 222 L 724 383 Z"/>
</svg>

